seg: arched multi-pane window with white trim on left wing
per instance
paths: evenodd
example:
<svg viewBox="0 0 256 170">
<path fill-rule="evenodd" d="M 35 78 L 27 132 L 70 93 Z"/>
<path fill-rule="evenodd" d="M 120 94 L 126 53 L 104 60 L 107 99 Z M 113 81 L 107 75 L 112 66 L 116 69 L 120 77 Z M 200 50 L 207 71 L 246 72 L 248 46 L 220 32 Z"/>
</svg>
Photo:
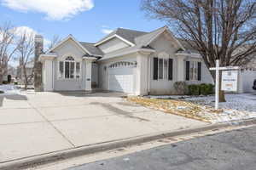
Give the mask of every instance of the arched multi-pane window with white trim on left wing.
<svg viewBox="0 0 256 170">
<path fill-rule="evenodd" d="M 68 56 L 65 61 L 59 63 L 59 78 L 74 79 L 80 78 L 80 63 L 76 62 L 72 56 Z"/>
</svg>

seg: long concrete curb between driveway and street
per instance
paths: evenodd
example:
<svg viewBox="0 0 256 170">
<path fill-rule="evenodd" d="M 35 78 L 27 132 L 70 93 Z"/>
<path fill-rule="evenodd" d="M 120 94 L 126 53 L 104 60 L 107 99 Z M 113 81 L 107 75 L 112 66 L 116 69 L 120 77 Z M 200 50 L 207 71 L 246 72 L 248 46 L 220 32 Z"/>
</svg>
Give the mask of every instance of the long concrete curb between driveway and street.
<svg viewBox="0 0 256 170">
<path fill-rule="evenodd" d="M 247 120 L 244 122 L 236 122 L 236 123 L 218 123 L 213 125 L 207 125 L 203 127 L 195 127 L 192 129 L 184 129 L 184 130 L 177 130 L 177 131 L 167 131 L 161 133 L 151 133 L 149 135 L 138 136 L 130 139 L 120 139 L 118 141 L 103 143 L 103 144 L 93 144 L 89 146 L 81 146 L 78 148 L 73 148 L 70 150 L 61 150 L 56 151 L 50 154 L 43 154 L 41 156 L 32 156 L 16 161 L 9 161 L 6 163 L 0 163 L 1 170 L 18 170 L 24 169 L 27 167 L 33 167 L 38 165 L 47 164 L 53 161 L 61 161 L 68 158 L 73 158 L 77 156 L 84 156 L 96 152 L 106 151 L 106 150 L 114 150 L 117 148 L 129 146 L 129 145 L 136 145 L 142 144 L 149 141 L 154 141 L 157 139 L 164 139 L 170 138 L 180 135 L 186 135 L 189 133 L 199 133 L 209 130 L 214 130 L 217 128 L 224 128 L 224 127 L 238 127 L 241 125 L 253 125 L 256 124 L 256 119 Z"/>
</svg>

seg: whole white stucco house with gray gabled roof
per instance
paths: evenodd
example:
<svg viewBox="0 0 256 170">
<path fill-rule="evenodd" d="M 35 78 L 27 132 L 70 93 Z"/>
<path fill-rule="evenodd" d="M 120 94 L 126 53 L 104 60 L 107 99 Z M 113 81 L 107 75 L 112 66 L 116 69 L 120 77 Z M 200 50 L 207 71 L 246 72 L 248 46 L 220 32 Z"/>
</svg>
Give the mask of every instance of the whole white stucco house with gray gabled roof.
<svg viewBox="0 0 256 170">
<path fill-rule="evenodd" d="M 36 37 L 36 42 L 43 37 Z M 39 57 L 44 91 L 173 94 L 177 81 L 213 83 L 210 72 L 189 45 L 167 26 L 143 32 L 119 28 L 96 43 L 72 35 Z"/>
</svg>

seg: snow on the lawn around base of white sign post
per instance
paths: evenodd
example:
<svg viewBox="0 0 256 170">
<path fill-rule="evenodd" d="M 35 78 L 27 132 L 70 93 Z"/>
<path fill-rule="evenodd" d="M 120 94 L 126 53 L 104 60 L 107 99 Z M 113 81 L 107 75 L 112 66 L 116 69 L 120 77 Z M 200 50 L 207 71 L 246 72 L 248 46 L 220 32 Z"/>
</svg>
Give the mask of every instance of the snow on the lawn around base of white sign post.
<svg viewBox="0 0 256 170">
<path fill-rule="evenodd" d="M 245 119 L 256 118 L 256 93 L 255 94 L 226 94 L 226 101 L 219 103 L 219 108 L 222 111 L 216 113 L 211 109 L 207 109 L 209 106 L 213 109 L 215 97 L 212 96 L 181 96 L 181 95 L 169 95 L 169 96 L 148 96 L 151 99 L 178 99 L 183 101 L 189 101 L 195 104 L 201 105 L 203 111 L 198 113 L 198 116 L 205 117 L 210 122 L 233 122 L 241 121 Z"/>
</svg>

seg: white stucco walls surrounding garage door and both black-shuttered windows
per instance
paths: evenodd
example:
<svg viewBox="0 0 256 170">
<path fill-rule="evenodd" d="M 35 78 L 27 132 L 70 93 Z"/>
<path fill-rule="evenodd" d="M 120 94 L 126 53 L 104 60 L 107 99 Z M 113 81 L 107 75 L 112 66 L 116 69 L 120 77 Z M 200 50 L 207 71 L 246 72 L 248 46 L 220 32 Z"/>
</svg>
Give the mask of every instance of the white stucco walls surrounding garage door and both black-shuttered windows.
<svg viewBox="0 0 256 170">
<path fill-rule="evenodd" d="M 134 69 L 134 94 L 175 94 L 174 82 L 185 81 L 185 61 L 201 61 L 201 81 L 186 81 L 188 84 L 193 83 L 213 83 L 210 72 L 202 59 L 192 57 L 177 56 L 177 49 L 180 48 L 174 40 L 165 33 L 160 35 L 150 46 L 155 49 L 154 54 L 128 54 L 119 58 L 108 59 L 99 62 L 99 87 L 108 90 L 108 66 L 119 61 L 137 61 L 137 68 Z M 154 80 L 154 57 L 164 59 L 173 59 L 173 77 L 172 80 Z M 182 70 L 181 70 L 182 69 Z M 148 75 L 149 72 L 149 75 Z M 181 75 L 182 74 L 182 75 Z M 183 77 L 181 77 L 183 76 Z M 148 83 L 149 79 L 149 83 Z M 182 80 L 181 80 L 182 79 Z"/>
</svg>

